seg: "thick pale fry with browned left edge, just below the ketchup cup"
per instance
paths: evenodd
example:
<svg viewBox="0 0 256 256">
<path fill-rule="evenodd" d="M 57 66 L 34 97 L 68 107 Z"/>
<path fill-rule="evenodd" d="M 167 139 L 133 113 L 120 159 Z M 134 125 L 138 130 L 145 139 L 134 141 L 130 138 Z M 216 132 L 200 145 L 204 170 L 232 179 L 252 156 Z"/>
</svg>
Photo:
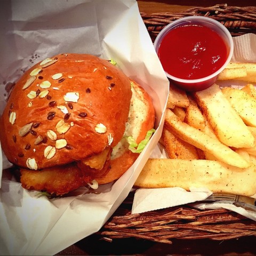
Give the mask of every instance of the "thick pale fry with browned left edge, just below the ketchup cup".
<svg viewBox="0 0 256 256">
<path fill-rule="evenodd" d="M 196 92 L 195 97 L 214 133 L 223 144 L 236 148 L 253 146 L 253 135 L 217 84 Z"/>
</svg>

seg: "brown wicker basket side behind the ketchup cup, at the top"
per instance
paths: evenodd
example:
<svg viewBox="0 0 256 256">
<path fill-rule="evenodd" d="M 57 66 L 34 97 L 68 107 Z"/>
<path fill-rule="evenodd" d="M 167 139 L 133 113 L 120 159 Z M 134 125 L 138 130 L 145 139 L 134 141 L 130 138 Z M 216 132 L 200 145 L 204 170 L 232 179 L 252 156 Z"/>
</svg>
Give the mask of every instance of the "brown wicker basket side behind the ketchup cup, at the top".
<svg viewBox="0 0 256 256">
<path fill-rule="evenodd" d="M 178 13 L 141 13 L 153 42 L 158 33 L 172 21 L 194 15 L 210 17 L 219 21 L 230 31 L 232 36 L 256 34 L 256 7 L 254 6 L 237 7 L 218 4 L 211 7 L 195 7 Z"/>
</svg>

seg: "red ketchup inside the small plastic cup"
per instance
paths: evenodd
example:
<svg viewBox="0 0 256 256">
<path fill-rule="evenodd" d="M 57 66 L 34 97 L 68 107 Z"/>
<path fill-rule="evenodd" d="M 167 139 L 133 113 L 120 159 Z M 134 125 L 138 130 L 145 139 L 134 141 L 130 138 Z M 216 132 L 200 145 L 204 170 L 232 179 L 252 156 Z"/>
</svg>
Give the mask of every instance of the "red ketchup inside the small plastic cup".
<svg viewBox="0 0 256 256">
<path fill-rule="evenodd" d="M 212 29 L 185 25 L 166 34 L 158 49 L 166 73 L 181 79 L 199 79 L 220 69 L 228 57 L 228 47 Z"/>
</svg>

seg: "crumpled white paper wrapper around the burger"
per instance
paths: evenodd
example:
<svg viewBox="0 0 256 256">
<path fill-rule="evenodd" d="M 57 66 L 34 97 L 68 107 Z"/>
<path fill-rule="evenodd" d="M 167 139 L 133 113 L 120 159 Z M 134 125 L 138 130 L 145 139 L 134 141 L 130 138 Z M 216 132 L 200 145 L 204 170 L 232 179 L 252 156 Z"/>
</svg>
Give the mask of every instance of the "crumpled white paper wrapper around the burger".
<svg viewBox="0 0 256 256">
<path fill-rule="evenodd" d="M 134 165 L 95 191 L 83 187 L 49 200 L 3 171 L 0 254 L 52 255 L 98 231 L 129 194 L 161 136 L 169 82 L 134 0 L 0 1 L 0 25 L 0 113 L 24 70 L 68 52 L 114 59 L 145 87 L 156 110 L 157 131 Z M 4 155 L 1 164 L 10 166 Z"/>
</svg>

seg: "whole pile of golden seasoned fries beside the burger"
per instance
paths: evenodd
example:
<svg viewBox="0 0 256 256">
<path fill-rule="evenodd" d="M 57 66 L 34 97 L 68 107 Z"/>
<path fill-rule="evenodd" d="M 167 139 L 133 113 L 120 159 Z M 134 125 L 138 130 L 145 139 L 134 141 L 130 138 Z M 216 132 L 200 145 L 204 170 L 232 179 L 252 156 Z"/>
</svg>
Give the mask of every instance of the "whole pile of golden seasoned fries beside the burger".
<svg viewBox="0 0 256 256">
<path fill-rule="evenodd" d="M 256 66 L 230 63 L 218 79 L 256 82 Z M 192 95 L 171 86 L 170 92 L 160 140 L 170 159 L 148 159 L 134 186 L 188 191 L 207 187 L 215 193 L 256 194 L 253 84 L 242 89 L 213 84 Z"/>
</svg>

